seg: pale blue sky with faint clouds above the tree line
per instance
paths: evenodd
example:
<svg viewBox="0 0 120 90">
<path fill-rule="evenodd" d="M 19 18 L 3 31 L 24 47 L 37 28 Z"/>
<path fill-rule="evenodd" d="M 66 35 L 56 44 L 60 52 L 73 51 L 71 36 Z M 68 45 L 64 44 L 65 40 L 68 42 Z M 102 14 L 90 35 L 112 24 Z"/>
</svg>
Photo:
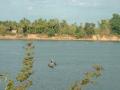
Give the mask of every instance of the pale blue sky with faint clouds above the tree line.
<svg viewBox="0 0 120 90">
<path fill-rule="evenodd" d="M 120 13 L 120 0 L 0 0 L 0 20 L 65 19 L 98 22 Z"/>
</svg>

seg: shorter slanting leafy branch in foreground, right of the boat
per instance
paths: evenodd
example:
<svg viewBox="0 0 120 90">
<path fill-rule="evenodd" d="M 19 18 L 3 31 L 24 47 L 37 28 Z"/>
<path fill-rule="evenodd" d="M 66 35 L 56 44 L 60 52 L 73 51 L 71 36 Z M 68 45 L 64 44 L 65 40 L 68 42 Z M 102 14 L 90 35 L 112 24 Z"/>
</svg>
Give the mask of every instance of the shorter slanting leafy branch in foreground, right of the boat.
<svg viewBox="0 0 120 90">
<path fill-rule="evenodd" d="M 95 79 L 102 75 L 102 70 L 101 65 L 93 65 L 93 70 L 86 72 L 83 79 L 75 82 L 70 90 L 84 90 L 87 85 L 94 84 Z"/>
</svg>

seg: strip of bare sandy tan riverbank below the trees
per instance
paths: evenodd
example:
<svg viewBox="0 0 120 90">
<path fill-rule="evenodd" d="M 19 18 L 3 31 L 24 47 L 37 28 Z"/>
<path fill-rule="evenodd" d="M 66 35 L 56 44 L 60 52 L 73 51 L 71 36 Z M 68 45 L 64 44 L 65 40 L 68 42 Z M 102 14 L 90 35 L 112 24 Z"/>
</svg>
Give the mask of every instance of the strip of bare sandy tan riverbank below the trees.
<svg viewBox="0 0 120 90">
<path fill-rule="evenodd" d="M 118 36 L 99 36 L 93 35 L 91 38 L 76 38 L 75 36 L 70 35 L 59 35 L 48 37 L 47 35 L 39 34 L 28 34 L 27 36 L 23 35 L 0 35 L 0 40 L 87 40 L 87 41 L 120 41 Z"/>
</svg>

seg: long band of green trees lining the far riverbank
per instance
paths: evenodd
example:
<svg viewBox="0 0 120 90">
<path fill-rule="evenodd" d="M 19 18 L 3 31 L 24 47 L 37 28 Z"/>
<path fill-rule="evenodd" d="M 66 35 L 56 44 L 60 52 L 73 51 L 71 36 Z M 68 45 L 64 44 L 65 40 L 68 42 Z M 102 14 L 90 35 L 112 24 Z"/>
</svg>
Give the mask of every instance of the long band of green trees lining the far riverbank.
<svg viewBox="0 0 120 90">
<path fill-rule="evenodd" d="M 113 14 L 112 18 L 100 20 L 95 23 L 69 24 L 65 20 L 37 19 L 30 21 L 26 18 L 16 21 L 0 21 L 0 34 L 45 34 L 49 37 L 55 35 L 72 35 L 76 38 L 91 37 L 93 35 L 120 35 L 120 15 Z"/>
</svg>

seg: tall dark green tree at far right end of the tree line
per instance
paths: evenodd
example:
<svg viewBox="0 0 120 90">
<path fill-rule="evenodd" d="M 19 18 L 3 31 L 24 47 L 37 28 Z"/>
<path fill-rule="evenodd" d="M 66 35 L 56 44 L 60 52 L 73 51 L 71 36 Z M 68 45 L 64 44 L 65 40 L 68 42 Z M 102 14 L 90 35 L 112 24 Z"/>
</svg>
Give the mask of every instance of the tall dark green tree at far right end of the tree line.
<svg viewBox="0 0 120 90">
<path fill-rule="evenodd" d="M 112 33 L 120 35 L 120 15 L 113 14 L 112 18 L 110 19 L 110 24 L 112 28 Z"/>
</svg>

